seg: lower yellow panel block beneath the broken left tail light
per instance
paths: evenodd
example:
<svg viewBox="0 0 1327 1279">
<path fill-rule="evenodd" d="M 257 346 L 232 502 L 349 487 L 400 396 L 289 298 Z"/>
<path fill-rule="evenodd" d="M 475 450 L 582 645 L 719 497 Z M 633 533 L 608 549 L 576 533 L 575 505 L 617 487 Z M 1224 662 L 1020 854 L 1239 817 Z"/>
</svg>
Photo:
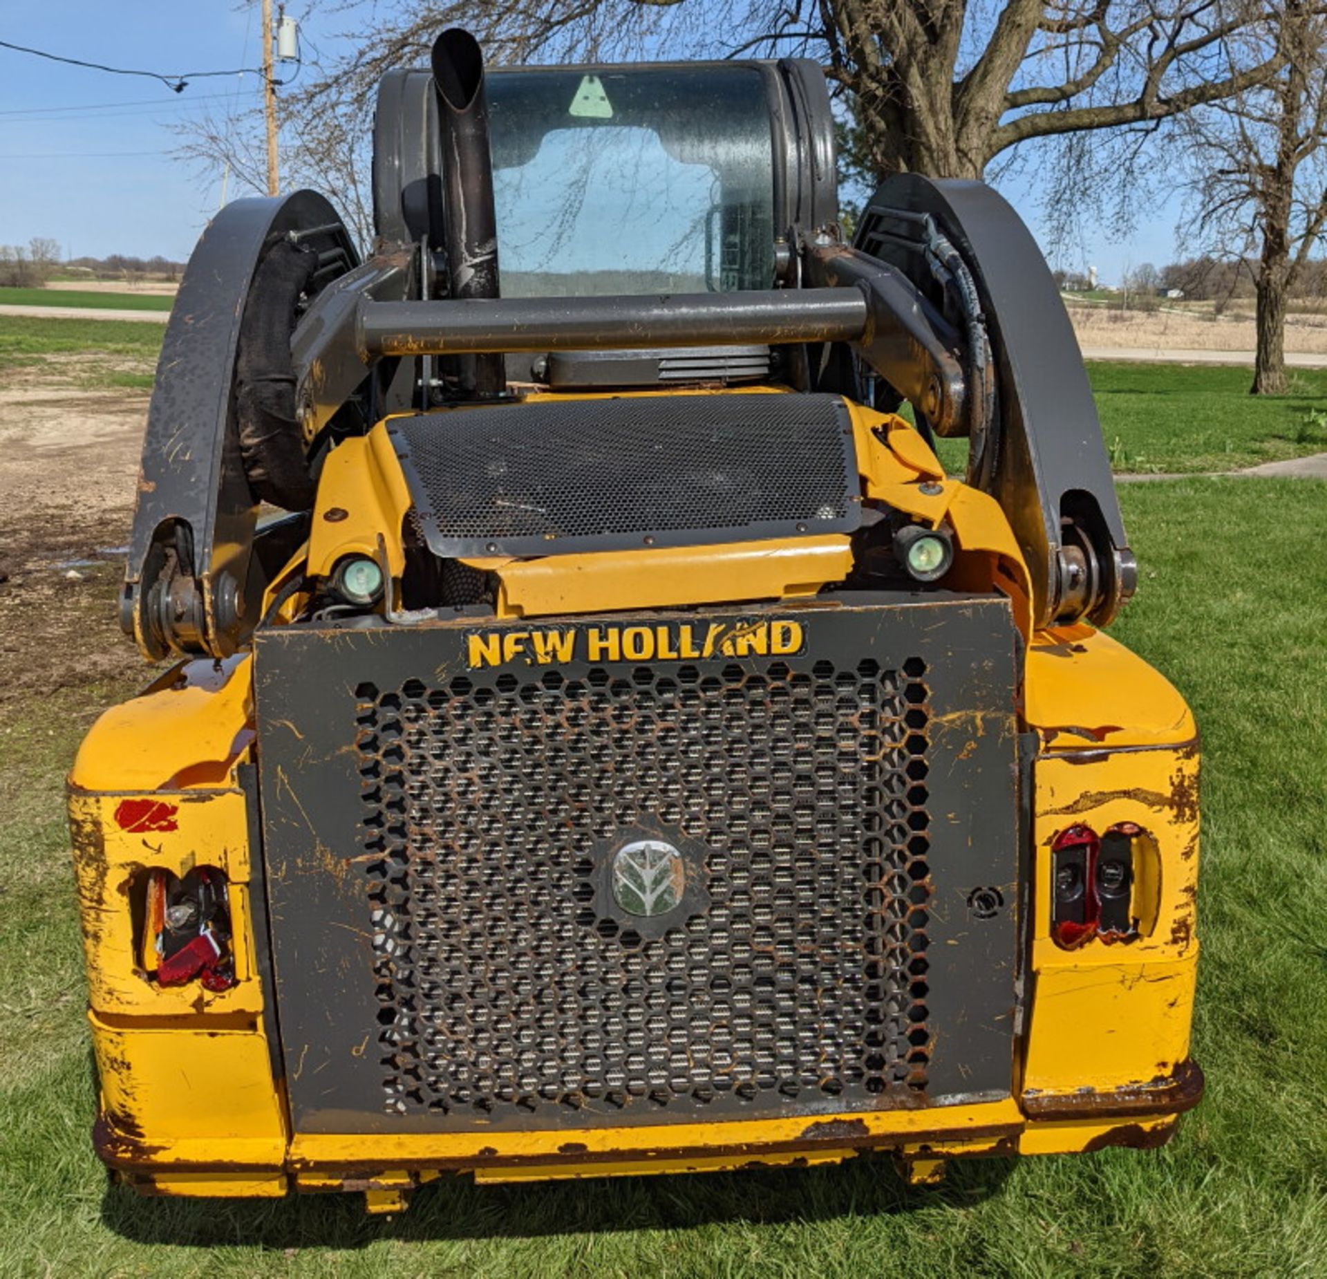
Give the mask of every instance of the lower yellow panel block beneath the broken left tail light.
<svg viewBox="0 0 1327 1279">
<path fill-rule="evenodd" d="M 94 1014 L 89 1020 L 113 1134 L 142 1141 L 154 1165 L 280 1169 L 285 1125 L 260 1028 L 121 1028 Z M 114 1148 L 106 1153 L 114 1158 Z M 125 1154 L 133 1162 L 131 1146 Z"/>
</svg>

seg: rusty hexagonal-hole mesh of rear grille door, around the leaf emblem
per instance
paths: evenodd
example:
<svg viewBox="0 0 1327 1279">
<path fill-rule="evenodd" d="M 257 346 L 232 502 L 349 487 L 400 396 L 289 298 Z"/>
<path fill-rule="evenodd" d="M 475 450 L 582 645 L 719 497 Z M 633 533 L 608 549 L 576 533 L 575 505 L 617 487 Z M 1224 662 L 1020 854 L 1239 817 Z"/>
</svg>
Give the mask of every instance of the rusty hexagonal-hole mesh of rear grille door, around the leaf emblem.
<svg viewBox="0 0 1327 1279">
<path fill-rule="evenodd" d="M 358 689 L 389 1113 L 439 1126 L 918 1101 L 925 666 Z M 596 911 L 624 829 L 709 850 L 662 937 Z M 890 1095 L 896 1095 L 890 1100 Z"/>
</svg>

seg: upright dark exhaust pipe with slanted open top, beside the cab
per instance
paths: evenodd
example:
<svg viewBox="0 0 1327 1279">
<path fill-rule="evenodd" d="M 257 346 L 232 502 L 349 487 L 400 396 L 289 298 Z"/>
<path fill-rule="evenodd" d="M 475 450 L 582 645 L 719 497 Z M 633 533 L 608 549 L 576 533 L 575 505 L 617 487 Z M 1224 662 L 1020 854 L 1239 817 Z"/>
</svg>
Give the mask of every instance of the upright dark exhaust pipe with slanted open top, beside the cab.
<svg viewBox="0 0 1327 1279">
<path fill-rule="evenodd" d="M 498 216 L 488 150 L 488 101 L 479 41 L 450 27 L 433 46 L 433 81 L 442 131 L 447 273 L 455 299 L 498 297 Z M 507 369 L 498 354 L 462 361 L 463 389 L 479 398 L 502 395 Z"/>
</svg>

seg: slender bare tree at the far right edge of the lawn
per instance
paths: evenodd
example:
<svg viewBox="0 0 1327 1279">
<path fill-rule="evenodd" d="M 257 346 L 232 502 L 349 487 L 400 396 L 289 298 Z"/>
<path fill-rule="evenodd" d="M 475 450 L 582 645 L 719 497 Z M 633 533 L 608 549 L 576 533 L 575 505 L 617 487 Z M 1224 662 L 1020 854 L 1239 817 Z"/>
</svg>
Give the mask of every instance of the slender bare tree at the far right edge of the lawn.
<svg viewBox="0 0 1327 1279">
<path fill-rule="evenodd" d="M 1286 390 L 1286 313 L 1327 220 L 1327 17 L 1278 0 L 1258 44 L 1283 66 L 1269 81 L 1197 111 L 1193 142 L 1197 235 L 1230 257 L 1257 256 L 1255 395 Z M 1231 61 L 1247 56 L 1234 49 Z"/>
</svg>

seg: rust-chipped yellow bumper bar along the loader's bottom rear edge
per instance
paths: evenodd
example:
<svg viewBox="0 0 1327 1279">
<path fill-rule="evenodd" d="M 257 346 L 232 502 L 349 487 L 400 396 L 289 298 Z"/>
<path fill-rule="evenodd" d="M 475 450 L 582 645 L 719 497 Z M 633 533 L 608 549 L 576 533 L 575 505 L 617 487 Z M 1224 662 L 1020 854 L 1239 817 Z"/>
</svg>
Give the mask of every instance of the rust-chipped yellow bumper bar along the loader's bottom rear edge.
<svg viewBox="0 0 1327 1279">
<path fill-rule="evenodd" d="M 102 1114 L 98 1156 L 146 1193 L 283 1194 L 411 1185 L 438 1173 L 480 1181 L 807 1166 L 890 1152 L 905 1160 L 1054 1154 L 1107 1146 L 1164 1145 L 1180 1114 L 1202 1097 L 1202 1071 L 1184 1061 L 1170 1076 L 1113 1089 L 1024 1095 L 967 1107 L 868 1112 L 812 1121 L 719 1122 L 584 1132 L 303 1134 L 280 1161 L 255 1160 L 224 1142 L 155 1145 Z M 248 1156 L 248 1157 L 245 1157 Z M 235 1189 L 230 1189 L 235 1187 Z M 243 1187 L 243 1189 L 240 1189 Z"/>
</svg>

